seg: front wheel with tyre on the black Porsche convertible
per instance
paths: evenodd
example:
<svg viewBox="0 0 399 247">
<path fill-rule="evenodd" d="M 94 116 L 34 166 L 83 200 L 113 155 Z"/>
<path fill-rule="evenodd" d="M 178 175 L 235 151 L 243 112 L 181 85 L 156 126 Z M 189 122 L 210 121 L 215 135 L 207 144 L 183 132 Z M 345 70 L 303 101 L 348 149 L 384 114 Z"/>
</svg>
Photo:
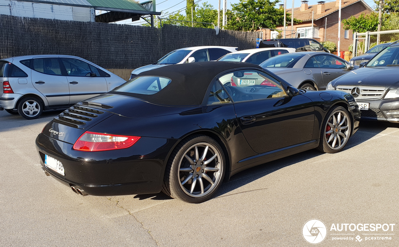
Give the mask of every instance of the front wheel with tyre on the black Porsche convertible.
<svg viewBox="0 0 399 247">
<path fill-rule="evenodd" d="M 324 119 L 318 149 L 325 153 L 337 153 L 344 149 L 352 132 L 352 120 L 344 107 L 330 109 Z"/>
</svg>

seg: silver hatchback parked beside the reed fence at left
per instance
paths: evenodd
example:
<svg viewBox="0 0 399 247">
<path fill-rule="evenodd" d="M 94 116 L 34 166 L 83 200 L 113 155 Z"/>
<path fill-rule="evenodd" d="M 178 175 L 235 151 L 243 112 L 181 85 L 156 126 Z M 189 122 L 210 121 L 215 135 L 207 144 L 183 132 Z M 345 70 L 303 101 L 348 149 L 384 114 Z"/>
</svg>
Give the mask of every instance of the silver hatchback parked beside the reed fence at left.
<svg viewBox="0 0 399 247">
<path fill-rule="evenodd" d="M 26 119 L 107 93 L 126 81 L 80 57 L 30 55 L 0 60 L 0 110 Z"/>
</svg>

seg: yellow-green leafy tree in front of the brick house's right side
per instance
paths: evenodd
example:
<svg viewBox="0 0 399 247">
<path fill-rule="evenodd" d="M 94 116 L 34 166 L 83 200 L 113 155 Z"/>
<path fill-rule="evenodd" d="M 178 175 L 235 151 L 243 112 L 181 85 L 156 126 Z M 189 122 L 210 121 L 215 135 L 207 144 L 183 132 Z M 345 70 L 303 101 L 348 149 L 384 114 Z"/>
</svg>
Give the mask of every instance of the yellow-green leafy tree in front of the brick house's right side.
<svg viewBox="0 0 399 247">
<path fill-rule="evenodd" d="M 358 18 L 352 16 L 351 18 L 342 20 L 345 29 L 353 30 L 354 32 L 373 32 L 378 28 L 378 14 L 372 12 L 370 14 L 362 13 Z"/>
</svg>

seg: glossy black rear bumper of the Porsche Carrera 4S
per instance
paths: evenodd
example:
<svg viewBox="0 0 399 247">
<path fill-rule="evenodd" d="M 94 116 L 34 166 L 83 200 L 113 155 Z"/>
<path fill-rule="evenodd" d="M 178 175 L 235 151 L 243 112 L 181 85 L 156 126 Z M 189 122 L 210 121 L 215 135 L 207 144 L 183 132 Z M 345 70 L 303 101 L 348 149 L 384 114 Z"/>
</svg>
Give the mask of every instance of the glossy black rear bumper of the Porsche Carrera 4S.
<svg viewBox="0 0 399 247">
<path fill-rule="evenodd" d="M 41 133 L 36 149 L 41 166 L 59 182 L 77 185 L 93 196 L 116 196 L 160 192 L 165 161 L 176 141 L 142 137 L 130 148 L 84 152 Z M 65 176 L 44 165 L 45 154 L 62 163 Z"/>
</svg>

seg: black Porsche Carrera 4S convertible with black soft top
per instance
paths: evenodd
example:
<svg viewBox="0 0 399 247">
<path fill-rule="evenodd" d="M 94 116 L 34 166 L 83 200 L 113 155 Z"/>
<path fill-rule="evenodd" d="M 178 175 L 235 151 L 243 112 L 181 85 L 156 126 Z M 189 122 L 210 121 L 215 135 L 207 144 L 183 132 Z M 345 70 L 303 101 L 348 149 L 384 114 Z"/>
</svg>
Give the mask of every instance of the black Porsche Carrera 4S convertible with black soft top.
<svg viewBox="0 0 399 247">
<path fill-rule="evenodd" d="M 187 63 L 74 105 L 36 147 L 45 173 L 76 193 L 162 190 L 200 203 L 244 169 L 312 148 L 341 151 L 359 117 L 349 93 L 296 89 L 251 63 Z"/>
</svg>

